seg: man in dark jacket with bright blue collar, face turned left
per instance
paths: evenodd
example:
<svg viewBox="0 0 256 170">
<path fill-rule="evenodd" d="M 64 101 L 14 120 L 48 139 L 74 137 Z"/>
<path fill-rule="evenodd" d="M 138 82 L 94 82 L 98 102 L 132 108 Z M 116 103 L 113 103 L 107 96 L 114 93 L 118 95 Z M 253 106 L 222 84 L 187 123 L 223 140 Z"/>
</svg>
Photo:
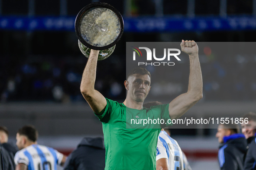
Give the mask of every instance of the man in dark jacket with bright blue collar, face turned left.
<svg viewBox="0 0 256 170">
<path fill-rule="evenodd" d="M 220 170 L 243 170 L 246 139 L 239 132 L 237 124 L 220 124 L 218 126 L 216 137 L 220 142 L 218 153 Z"/>
</svg>

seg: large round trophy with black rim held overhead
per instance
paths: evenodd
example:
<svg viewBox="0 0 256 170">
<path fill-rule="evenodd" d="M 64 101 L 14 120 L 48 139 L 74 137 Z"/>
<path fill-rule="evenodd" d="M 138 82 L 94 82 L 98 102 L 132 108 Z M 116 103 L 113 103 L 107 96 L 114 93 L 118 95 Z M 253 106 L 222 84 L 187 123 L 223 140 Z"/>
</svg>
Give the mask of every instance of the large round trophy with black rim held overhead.
<svg viewBox="0 0 256 170">
<path fill-rule="evenodd" d="M 104 60 L 113 53 L 123 34 L 123 17 L 107 3 L 90 3 L 76 16 L 75 33 L 85 57 L 94 49 L 100 50 L 98 60 Z"/>
</svg>

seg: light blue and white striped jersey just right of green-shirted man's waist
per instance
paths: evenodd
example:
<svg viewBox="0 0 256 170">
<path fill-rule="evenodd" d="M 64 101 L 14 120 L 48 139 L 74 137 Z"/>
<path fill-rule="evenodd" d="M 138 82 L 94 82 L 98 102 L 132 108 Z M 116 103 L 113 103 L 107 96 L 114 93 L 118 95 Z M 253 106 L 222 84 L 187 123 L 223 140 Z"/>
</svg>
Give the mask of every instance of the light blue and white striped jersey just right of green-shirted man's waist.
<svg viewBox="0 0 256 170">
<path fill-rule="evenodd" d="M 161 158 L 168 159 L 169 170 L 184 170 L 181 148 L 165 131 L 160 132 L 157 141 L 156 161 Z"/>
</svg>

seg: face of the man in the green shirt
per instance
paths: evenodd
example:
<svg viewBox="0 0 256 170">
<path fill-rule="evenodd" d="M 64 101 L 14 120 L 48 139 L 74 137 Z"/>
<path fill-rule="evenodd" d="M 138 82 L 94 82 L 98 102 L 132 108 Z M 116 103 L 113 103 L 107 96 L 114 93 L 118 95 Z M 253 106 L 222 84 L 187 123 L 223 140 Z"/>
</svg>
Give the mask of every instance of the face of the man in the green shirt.
<svg viewBox="0 0 256 170">
<path fill-rule="evenodd" d="M 145 100 L 150 90 L 150 77 L 149 75 L 133 74 L 128 77 L 127 95 L 137 102 Z"/>
</svg>

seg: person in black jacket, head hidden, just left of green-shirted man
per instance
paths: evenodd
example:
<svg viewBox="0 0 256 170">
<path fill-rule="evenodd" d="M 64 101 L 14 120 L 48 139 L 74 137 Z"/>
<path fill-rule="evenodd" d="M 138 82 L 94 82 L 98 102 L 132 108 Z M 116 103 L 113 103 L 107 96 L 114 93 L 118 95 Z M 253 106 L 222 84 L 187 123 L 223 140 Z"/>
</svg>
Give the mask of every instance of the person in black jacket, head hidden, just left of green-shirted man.
<svg viewBox="0 0 256 170">
<path fill-rule="evenodd" d="M 85 137 L 70 155 L 64 170 L 104 170 L 105 146 L 103 138 Z"/>
</svg>

